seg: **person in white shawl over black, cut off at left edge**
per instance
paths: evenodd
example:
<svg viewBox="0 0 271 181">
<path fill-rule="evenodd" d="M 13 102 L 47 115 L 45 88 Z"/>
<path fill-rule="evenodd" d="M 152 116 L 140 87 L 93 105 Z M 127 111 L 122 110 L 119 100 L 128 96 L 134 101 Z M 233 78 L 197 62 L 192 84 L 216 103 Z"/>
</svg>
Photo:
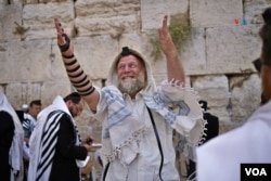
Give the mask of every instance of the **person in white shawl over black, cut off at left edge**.
<svg viewBox="0 0 271 181">
<path fill-rule="evenodd" d="M 0 180 L 23 181 L 24 130 L 16 112 L 1 91 L 0 121 Z"/>
</svg>

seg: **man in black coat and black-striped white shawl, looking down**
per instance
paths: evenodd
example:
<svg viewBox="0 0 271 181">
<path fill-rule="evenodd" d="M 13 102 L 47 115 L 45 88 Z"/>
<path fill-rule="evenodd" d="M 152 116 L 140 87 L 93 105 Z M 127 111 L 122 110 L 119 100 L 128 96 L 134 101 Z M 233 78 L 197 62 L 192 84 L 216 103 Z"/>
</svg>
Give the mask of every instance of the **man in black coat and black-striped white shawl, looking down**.
<svg viewBox="0 0 271 181">
<path fill-rule="evenodd" d="M 28 181 L 80 181 L 91 145 L 81 142 L 74 117 L 82 112 L 77 92 L 53 103 L 38 115 L 29 141 Z"/>
</svg>

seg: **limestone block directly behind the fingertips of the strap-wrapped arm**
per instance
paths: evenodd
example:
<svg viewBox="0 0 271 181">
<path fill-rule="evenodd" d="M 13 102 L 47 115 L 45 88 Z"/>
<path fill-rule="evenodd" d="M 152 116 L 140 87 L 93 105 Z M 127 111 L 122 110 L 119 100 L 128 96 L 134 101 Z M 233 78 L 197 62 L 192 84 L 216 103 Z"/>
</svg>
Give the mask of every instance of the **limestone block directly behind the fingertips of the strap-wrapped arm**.
<svg viewBox="0 0 271 181">
<path fill-rule="evenodd" d="M 74 2 L 50 2 L 38 4 L 26 4 L 23 9 L 23 24 L 29 30 L 25 39 L 55 38 L 54 17 L 59 17 L 65 33 L 74 35 Z"/>
</svg>

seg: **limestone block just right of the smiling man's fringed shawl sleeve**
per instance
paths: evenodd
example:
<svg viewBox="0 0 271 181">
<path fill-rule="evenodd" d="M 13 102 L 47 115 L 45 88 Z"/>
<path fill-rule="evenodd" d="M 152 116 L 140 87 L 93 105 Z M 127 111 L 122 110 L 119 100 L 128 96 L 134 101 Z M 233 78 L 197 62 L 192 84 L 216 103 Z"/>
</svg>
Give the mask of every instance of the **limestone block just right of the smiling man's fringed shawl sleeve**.
<svg viewBox="0 0 271 181">
<path fill-rule="evenodd" d="M 192 81 L 199 99 L 208 102 L 209 112 L 221 121 L 230 121 L 227 106 L 229 105 L 229 80 L 225 76 L 202 76 Z"/>
</svg>

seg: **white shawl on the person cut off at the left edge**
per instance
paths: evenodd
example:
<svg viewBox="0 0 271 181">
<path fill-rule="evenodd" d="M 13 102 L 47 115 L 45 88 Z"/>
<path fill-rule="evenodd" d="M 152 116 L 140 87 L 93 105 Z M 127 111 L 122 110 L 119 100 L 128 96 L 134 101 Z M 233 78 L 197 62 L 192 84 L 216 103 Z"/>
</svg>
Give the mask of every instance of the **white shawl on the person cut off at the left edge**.
<svg viewBox="0 0 271 181">
<path fill-rule="evenodd" d="M 15 126 L 13 141 L 12 141 L 12 145 L 10 148 L 10 165 L 12 167 L 11 181 L 23 181 L 24 179 L 24 165 L 23 165 L 24 130 L 17 117 L 17 114 L 15 113 L 11 104 L 9 103 L 7 96 L 1 91 L 0 91 L 0 111 L 8 112 L 12 116 L 12 119 Z"/>
</svg>

